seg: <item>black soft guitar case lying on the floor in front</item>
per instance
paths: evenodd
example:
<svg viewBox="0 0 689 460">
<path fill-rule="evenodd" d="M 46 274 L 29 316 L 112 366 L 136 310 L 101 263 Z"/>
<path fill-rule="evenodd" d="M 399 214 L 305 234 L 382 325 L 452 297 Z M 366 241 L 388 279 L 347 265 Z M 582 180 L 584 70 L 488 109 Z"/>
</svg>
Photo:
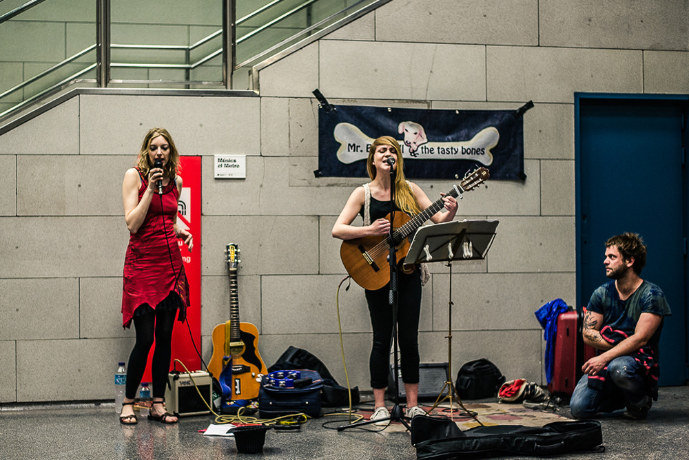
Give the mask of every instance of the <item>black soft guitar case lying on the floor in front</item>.
<svg viewBox="0 0 689 460">
<path fill-rule="evenodd" d="M 477 426 L 460 430 L 449 419 L 419 415 L 411 421 L 417 459 L 472 459 L 504 455 L 551 456 L 604 452 L 601 424 L 595 420 L 556 421 L 542 427 Z"/>
</svg>

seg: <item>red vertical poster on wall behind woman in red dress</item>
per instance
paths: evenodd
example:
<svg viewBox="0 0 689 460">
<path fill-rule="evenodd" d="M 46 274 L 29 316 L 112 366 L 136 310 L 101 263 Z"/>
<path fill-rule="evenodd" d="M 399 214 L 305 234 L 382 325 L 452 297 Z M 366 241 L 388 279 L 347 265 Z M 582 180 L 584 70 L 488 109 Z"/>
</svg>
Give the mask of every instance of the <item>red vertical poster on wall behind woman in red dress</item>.
<svg viewBox="0 0 689 460">
<path fill-rule="evenodd" d="M 179 359 L 193 371 L 201 368 L 201 359 L 196 353 L 196 350 L 201 353 L 201 157 L 180 156 L 178 175 L 183 180 L 183 187 L 177 205 L 177 224 L 192 233 L 194 247 L 189 252 L 186 244 L 182 240 L 177 240 L 187 273 L 191 303 L 187 309 L 187 322 L 175 321 L 174 324 L 170 369 L 173 367 L 174 359 Z M 151 381 L 152 358 L 153 350 L 148 355 L 143 381 Z M 184 368 L 179 365 L 177 370 L 184 372 Z"/>
</svg>

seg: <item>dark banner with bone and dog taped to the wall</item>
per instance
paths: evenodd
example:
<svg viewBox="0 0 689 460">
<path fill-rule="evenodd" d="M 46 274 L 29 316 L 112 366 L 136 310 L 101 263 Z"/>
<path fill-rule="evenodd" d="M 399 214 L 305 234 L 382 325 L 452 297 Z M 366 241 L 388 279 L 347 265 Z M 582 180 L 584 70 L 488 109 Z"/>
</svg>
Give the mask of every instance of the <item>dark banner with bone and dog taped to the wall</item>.
<svg viewBox="0 0 689 460">
<path fill-rule="evenodd" d="M 335 105 L 318 111 L 320 176 L 367 177 L 369 146 L 391 136 L 409 178 L 449 179 L 484 166 L 491 180 L 524 180 L 524 124 L 514 110 Z"/>
</svg>

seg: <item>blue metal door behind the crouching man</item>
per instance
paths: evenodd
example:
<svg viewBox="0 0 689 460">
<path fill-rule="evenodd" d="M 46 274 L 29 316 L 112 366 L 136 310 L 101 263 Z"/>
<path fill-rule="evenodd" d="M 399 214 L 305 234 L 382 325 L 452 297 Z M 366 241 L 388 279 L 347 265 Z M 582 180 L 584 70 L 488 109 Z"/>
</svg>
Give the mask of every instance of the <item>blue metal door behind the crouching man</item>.
<svg viewBox="0 0 689 460">
<path fill-rule="evenodd" d="M 687 102 L 630 95 L 576 97 L 577 302 L 585 306 L 606 278 L 605 242 L 625 231 L 648 247 L 641 278 L 665 292 L 661 385 L 683 385 L 686 359 Z"/>
</svg>

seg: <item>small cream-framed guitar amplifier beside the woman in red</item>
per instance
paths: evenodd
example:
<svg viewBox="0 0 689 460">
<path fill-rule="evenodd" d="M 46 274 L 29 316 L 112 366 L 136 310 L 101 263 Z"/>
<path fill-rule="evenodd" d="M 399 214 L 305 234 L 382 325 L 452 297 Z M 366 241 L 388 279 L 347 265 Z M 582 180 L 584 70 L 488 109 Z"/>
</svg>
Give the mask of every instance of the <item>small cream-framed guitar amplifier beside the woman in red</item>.
<svg viewBox="0 0 689 460">
<path fill-rule="evenodd" d="M 165 389 L 165 406 L 168 412 L 179 417 L 210 413 L 208 406 L 212 406 L 213 378 L 209 373 L 198 370 L 192 372 L 191 377 L 185 372 L 170 373 L 167 378 L 169 386 Z"/>
</svg>

